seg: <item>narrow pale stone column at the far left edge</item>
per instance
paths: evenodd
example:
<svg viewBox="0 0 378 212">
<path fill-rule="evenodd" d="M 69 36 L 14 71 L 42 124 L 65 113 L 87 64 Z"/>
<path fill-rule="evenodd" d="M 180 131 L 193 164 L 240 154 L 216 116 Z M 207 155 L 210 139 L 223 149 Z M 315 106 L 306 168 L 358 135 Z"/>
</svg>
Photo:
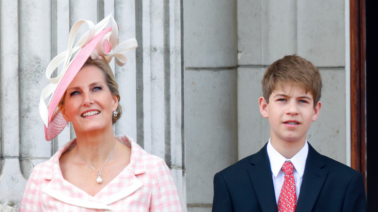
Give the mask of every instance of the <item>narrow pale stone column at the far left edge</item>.
<svg viewBox="0 0 378 212">
<path fill-rule="evenodd" d="M 18 2 L 0 1 L 0 211 L 7 209 L 16 211 L 25 185 L 18 161 L 20 148 Z"/>
</svg>

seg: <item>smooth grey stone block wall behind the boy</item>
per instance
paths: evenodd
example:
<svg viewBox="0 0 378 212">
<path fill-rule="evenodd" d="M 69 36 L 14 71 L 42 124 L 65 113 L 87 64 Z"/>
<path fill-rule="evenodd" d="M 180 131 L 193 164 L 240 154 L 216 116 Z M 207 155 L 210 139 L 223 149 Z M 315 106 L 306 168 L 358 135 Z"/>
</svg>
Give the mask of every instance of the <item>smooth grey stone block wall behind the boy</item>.
<svg viewBox="0 0 378 212">
<path fill-rule="evenodd" d="M 322 108 L 307 139 L 347 164 L 345 0 L 186 0 L 189 212 L 210 212 L 213 176 L 268 141 L 258 98 L 268 65 L 297 54 L 320 70 Z"/>
</svg>

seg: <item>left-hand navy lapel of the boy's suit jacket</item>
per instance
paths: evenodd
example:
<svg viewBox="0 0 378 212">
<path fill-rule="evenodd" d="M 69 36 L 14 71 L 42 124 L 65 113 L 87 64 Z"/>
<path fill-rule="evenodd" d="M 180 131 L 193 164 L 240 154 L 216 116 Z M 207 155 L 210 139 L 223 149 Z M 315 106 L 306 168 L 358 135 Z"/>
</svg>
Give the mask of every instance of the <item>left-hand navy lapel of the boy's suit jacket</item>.
<svg viewBox="0 0 378 212">
<path fill-rule="evenodd" d="M 262 211 L 277 211 L 267 145 L 254 154 L 248 173 Z"/>
</svg>

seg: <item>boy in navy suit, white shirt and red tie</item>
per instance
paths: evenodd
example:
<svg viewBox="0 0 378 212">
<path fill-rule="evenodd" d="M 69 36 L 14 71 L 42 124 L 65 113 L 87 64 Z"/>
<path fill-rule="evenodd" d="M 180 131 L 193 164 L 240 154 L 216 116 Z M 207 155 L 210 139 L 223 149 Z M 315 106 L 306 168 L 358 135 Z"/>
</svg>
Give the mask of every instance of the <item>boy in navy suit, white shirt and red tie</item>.
<svg viewBox="0 0 378 212">
<path fill-rule="evenodd" d="M 269 66 L 259 106 L 269 119 L 270 139 L 215 174 L 213 212 L 366 211 L 362 174 L 306 141 L 319 116 L 321 86 L 318 69 L 299 56 Z"/>
</svg>

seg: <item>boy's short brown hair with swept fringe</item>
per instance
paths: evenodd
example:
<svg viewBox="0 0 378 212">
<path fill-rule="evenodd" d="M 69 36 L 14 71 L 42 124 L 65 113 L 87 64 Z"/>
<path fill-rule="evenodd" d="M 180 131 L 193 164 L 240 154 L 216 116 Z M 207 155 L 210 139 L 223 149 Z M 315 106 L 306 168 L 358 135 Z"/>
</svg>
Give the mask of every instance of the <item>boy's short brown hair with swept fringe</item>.
<svg viewBox="0 0 378 212">
<path fill-rule="evenodd" d="M 277 86 L 283 86 L 283 82 L 302 86 L 306 92 L 311 91 L 314 107 L 319 102 L 322 79 L 319 70 L 310 61 L 297 55 L 290 55 L 273 62 L 265 71 L 261 82 L 263 97 L 267 103 L 270 94 L 277 89 Z"/>
</svg>

